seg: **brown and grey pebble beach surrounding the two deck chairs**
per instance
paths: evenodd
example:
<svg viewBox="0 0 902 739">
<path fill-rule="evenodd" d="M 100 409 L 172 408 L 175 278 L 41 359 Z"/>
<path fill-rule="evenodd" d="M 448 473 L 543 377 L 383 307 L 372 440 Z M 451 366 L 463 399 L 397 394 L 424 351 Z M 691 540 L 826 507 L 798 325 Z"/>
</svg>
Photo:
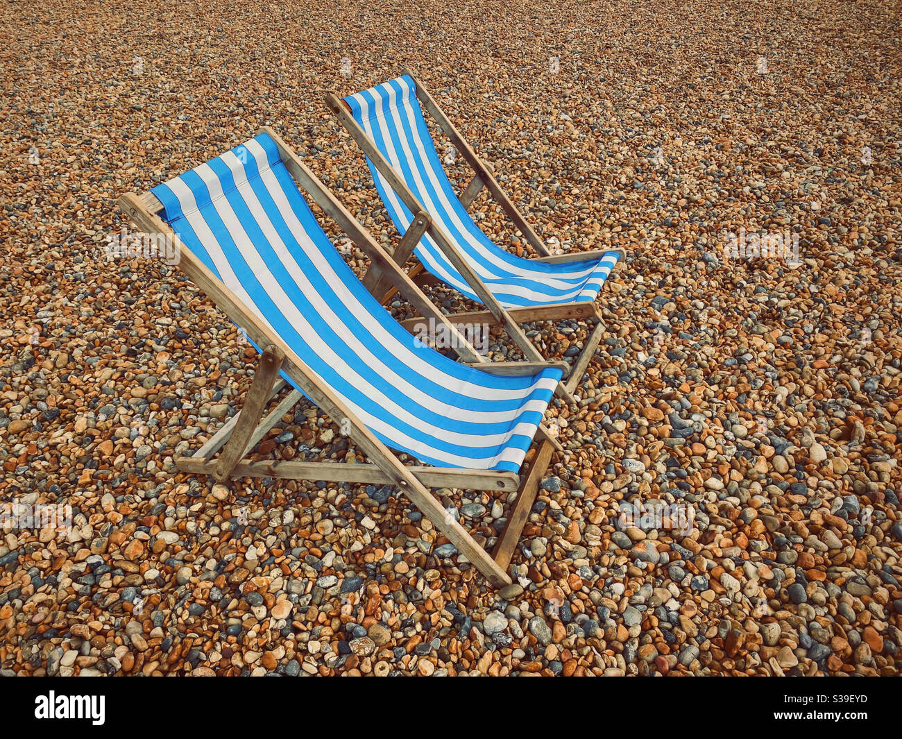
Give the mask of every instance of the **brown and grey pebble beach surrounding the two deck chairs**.
<svg viewBox="0 0 902 739">
<path fill-rule="evenodd" d="M 0 673 L 897 674 L 897 5 L 450 5 L 0 7 Z M 629 252 L 501 592 L 391 489 L 179 474 L 253 350 L 103 250 L 261 125 L 394 239 L 322 101 L 405 65 L 543 237 Z M 730 253 L 761 233 L 797 259 Z M 307 407 L 255 454 L 360 458 Z M 491 546 L 506 501 L 438 494 Z"/>
</svg>

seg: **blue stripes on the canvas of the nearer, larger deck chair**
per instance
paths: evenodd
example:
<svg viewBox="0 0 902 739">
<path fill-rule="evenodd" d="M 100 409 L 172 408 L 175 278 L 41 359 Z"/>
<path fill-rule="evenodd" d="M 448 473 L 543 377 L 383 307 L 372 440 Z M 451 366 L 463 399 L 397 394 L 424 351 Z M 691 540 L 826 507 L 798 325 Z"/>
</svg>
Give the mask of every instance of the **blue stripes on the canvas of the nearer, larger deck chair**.
<svg viewBox="0 0 902 739">
<path fill-rule="evenodd" d="M 378 389 L 378 391 L 383 393 L 388 399 L 395 402 L 405 411 L 410 412 L 419 420 L 424 421 L 430 428 L 465 434 L 472 439 L 472 443 L 468 442 L 465 445 L 453 444 L 450 443 L 449 439 L 439 438 L 436 434 L 430 434 L 426 430 L 412 427 L 405 421 L 395 417 L 391 411 L 382 408 L 380 404 L 374 402 L 370 397 L 367 397 L 360 388 L 354 386 L 354 381 L 350 378 L 343 377 L 341 372 L 329 365 L 325 358 L 318 356 L 304 339 L 299 327 L 292 326 L 290 319 L 283 315 L 279 305 L 267 293 L 266 288 L 263 286 L 258 275 L 254 274 L 251 265 L 245 261 L 238 245 L 235 244 L 235 237 L 240 235 L 233 236 L 222 217 L 216 212 L 216 206 L 212 203 L 211 194 L 198 174 L 198 171 L 189 171 L 184 175 L 181 175 L 177 179 L 190 189 L 192 196 L 196 199 L 198 204 L 198 217 L 203 219 L 207 228 L 212 233 L 217 252 L 222 252 L 230 264 L 232 271 L 235 273 L 236 279 L 241 283 L 241 286 L 244 288 L 244 291 L 248 293 L 250 299 L 253 300 L 253 304 L 262 312 L 272 327 L 286 341 L 288 346 L 290 346 L 291 349 L 297 353 L 338 395 L 342 396 L 347 401 L 358 405 L 374 417 L 388 423 L 394 429 L 400 430 L 410 439 L 415 439 L 419 443 L 425 443 L 430 447 L 441 449 L 442 452 L 447 452 L 450 455 L 460 457 L 494 457 L 502 451 L 502 448 L 496 448 L 494 446 L 484 448 L 481 446 L 480 437 L 502 435 L 503 433 L 509 432 L 519 423 L 529 424 L 529 427 L 534 430 L 538 423 L 541 422 L 542 418 L 542 413 L 538 411 L 522 410 L 520 413 L 517 413 L 515 418 L 510 422 L 474 420 L 472 417 L 467 417 L 466 414 L 463 414 L 463 417 L 461 418 L 448 418 L 431 408 L 412 402 L 405 393 L 392 385 L 388 378 L 383 377 L 377 367 L 370 366 L 362 361 L 362 358 L 356 354 L 354 347 L 348 346 L 345 343 L 345 340 L 338 335 L 336 330 L 338 327 L 336 325 L 330 325 L 325 317 L 319 315 L 316 307 L 310 303 L 308 298 L 303 294 L 300 286 L 294 282 L 288 269 L 281 263 L 273 245 L 269 243 L 265 236 L 262 224 L 257 222 L 248 203 L 244 201 L 244 198 L 238 191 L 238 187 L 245 181 L 253 190 L 255 198 L 259 201 L 265 217 L 276 232 L 276 236 L 279 237 L 282 245 L 284 245 L 291 258 L 297 263 L 299 270 L 311 283 L 313 290 L 317 294 L 317 300 L 320 301 L 319 304 L 327 304 L 335 312 L 336 318 L 350 329 L 354 337 L 357 337 L 364 346 L 378 356 L 382 363 L 387 365 L 393 372 L 400 375 L 404 381 L 419 388 L 421 392 L 426 393 L 428 397 L 436 399 L 439 402 L 445 402 L 452 408 L 464 409 L 465 411 L 516 411 L 517 409 L 522 409 L 530 400 L 540 402 L 542 409 L 544 409 L 551 398 L 553 389 L 534 389 L 529 392 L 526 397 L 507 400 L 500 399 L 489 402 L 470 398 L 462 393 L 457 393 L 453 387 L 449 385 L 453 385 L 455 381 L 461 381 L 480 384 L 487 388 L 527 392 L 534 383 L 538 382 L 539 378 L 551 378 L 557 382 L 561 376 L 560 370 L 557 369 L 544 370 L 542 373 L 531 377 L 502 377 L 485 374 L 465 365 L 460 365 L 428 347 L 418 346 L 415 337 L 411 336 L 404 328 L 400 327 L 400 324 L 398 324 L 397 321 L 391 318 L 388 311 L 382 308 L 378 301 L 364 289 L 363 285 L 357 280 L 354 273 L 341 256 L 337 254 L 322 228 L 318 226 L 306 201 L 300 195 L 299 190 L 294 186 L 289 172 L 278 160 L 278 148 L 275 146 L 275 143 L 272 142 L 272 139 L 265 134 L 261 134 L 257 137 L 256 141 L 260 143 L 266 151 L 270 170 L 279 183 L 281 194 L 287 199 L 292 212 L 295 217 L 298 218 L 299 223 L 310 238 L 314 247 L 317 249 L 318 254 L 322 254 L 323 257 L 325 257 L 329 272 L 326 274 L 320 273 L 319 268 L 315 266 L 315 263 L 312 261 L 310 254 L 305 252 L 306 246 L 299 244 L 297 239 L 291 233 L 290 226 L 285 222 L 283 217 L 281 217 L 281 213 L 272 199 L 272 193 L 267 189 L 266 183 L 261 178 L 261 173 L 257 169 L 257 163 L 253 156 L 247 156 L 246 162 L 243 162 L 244 172 L 242 173 L 241 180 L 238 182 L 235 181 L 235 175 L 228 165 L 226 165 L 226 162 L 222 158 L 216 158 L 215 160 L 208 162 L 208 165 L 219 180 L 219 185 L 225 194 L 225 200 L 234 212 L 235 219 L 244 229 L 247 237 L 247 242 L 245 243 L 244 236 L 241 236 L 244 248 L 247 248 L 248 245 L 253 247 L 253 250 L 256 251 L 262 262 L 266 264 L 266 268 L 272 273 L 272 277 L 279 283 L 282 291 L 284 291 L 289 300 L 291 300 L 293 306 L 308 319 L 311 328 L 316 332 L 319 339 L 327 343 L 336 354 L 342 356 L 348 365 L 353 366 L 354 370 L 361 375 L 365 383 L 369 383 L 373 388 Z M 172 180 L 170 180 L 170 182 L 171 181 Z M 161 200 L 164 207 L 165 218 L 170 222 L 170 225 L 173 226 L 173 230 L 179 233 L 183 244 L 197 254 L 198 258 L 201 259 L 201 261 L 205 263 L 217 277 L 222 279 L 223 276 L 216 271 L 214 260 L 204 246 L 203 239 L 198 236 L 198 233 L 196 233 L 193 228 L 191 228 L 188 217 L 182 212 L 179 199 L 170 186 L 160 185 L 157 188 L 154 188 L 153 192 L 158 199 Z M 219 200 L 218 202 L 222 207 L 222 201 Z M 353 295 L 354 300 L 358 301 L 359 307 L 357 310 L 362 307 L 364 310 L 369 311 L 373 317 L 378 320 L 380 327 L 390 334 L 393 340 L 399 342 L 399 346 L 406 346 L 411 351 L 416 352 L 425 359 L 429 365 L 432 365 L 441 374 L 445 375 L 447 378 L 446 383 L 439 383 L 415 372 L 409 366 L 405 365 L 399 356 L 383 350 L 382 346 L 374 343 L 373 337 L 364 327 L 363 322 L 358 318 L 359 314 L 354 312 L 354 306 L 345 305 L 345 302 L 339 298 L 335 289 L 335 286 L 339 282 Z M 285 375 L 283 374 L 283 376 Z M 287 378 L 287 376 L 286 379 L 289 379 L 290 381 L 290 378 Z M 424 462 L 440 466 L 449 466 L 446 459 L 429 457 L 428 455 L 424 456 L 422 453 L 414 452 L 411 449 L 399 447 L 391 439 L 384 437 L 379 431 L 373 429 L 373 432 L 387 445 L 409 451 L 410 454 L 413 454 Z M 505 443 L 504 448 L 516 448 L 525 452 L 525 450 L 529 448 L 531 440 L 531 436 L 518 434 L 511 437 L 511 439 Z M 494 442 L 492 443 L 494 444 Z M 495 468 L 517 471 L 519 465 L 502 461 L 499 462 Z"/>
</svg>

